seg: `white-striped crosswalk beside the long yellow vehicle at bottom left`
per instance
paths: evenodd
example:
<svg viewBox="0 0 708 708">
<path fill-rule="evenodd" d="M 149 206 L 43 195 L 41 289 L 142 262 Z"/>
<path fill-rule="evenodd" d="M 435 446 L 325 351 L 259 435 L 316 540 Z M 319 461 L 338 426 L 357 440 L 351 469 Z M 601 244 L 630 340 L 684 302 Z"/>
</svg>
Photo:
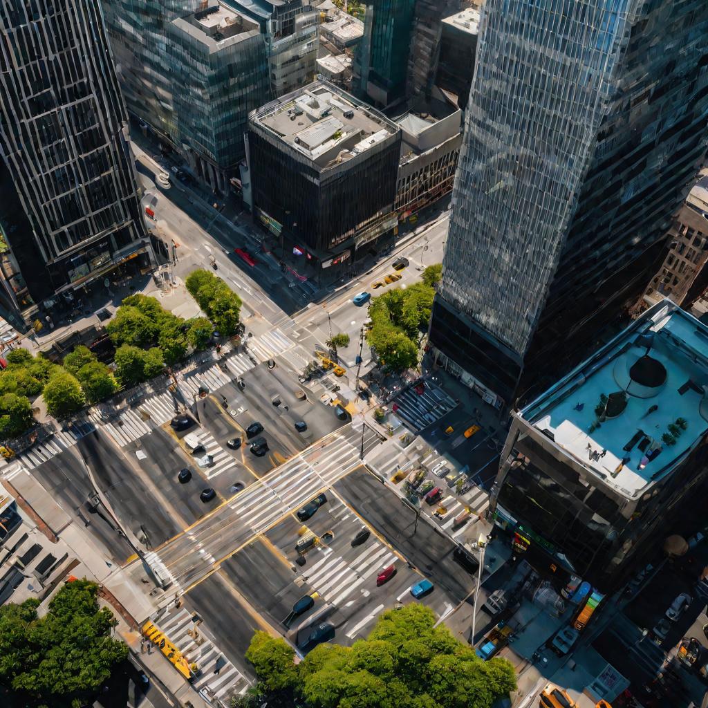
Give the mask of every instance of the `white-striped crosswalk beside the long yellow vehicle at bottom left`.
<svg viewBox="0 0 708 708">
<path fill-rule="evenodd" d="M 165 607 L 150 619 L 181 651 L 190 665 L 197 665 L 197 676 L 192 685 L 210 701 L 228 706 L 232 696 L 248 690 L 251 685 L 249 680 L 205 635 L 201 624 L 195 622 L 198 618 L 184 607 Z M 215 673 L 216 670 L 219 673 Z"/>
</svg>

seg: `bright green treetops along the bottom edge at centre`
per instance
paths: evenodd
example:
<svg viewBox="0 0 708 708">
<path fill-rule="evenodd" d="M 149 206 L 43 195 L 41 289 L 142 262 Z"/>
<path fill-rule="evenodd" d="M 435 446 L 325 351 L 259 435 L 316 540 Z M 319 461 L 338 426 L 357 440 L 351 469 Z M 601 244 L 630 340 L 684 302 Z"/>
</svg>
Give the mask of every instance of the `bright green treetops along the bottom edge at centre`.
<svg viewBox="0 0 708 708">
<path fill-rule="evenodd" d="M 320 644 L 298 664 L 283 639 L 256 632 L 246 651 L 258 684 L 235 705 L 308 708 L 489 708 L 516 688 L 513 666 L 482 661 L 429 607 L 412 603 L 379 617 L 353 646 Z"/>
</svg>

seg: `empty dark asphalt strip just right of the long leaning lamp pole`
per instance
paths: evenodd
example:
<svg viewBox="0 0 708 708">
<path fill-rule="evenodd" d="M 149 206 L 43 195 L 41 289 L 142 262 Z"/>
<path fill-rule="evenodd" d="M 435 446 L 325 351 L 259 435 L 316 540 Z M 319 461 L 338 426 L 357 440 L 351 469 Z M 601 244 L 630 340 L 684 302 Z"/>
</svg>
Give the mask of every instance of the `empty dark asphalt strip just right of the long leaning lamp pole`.
<svg viewBox="0 0 708 708">
<path fill-rule="evenodd" d="M 105 494 L 122 526 L 137 537 L 141 527 L 156 546 L 183 529 L 171 513 L 156 500 L 138 464 L 129 464 L 101 430 L 81 438 L 76 449 L 91 469 L 96 484 Z M 136 458 L 137 463 L 137 458 Z"/>
</svg>

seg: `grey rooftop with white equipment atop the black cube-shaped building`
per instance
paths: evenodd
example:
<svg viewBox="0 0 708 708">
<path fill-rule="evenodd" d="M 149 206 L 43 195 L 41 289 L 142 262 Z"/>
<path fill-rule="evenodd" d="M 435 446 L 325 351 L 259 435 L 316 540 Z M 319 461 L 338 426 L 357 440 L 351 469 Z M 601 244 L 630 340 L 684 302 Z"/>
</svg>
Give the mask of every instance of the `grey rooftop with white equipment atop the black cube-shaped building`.
<svg viewBox="0 0 708 708">
<path fill-rule="evenodd" d="M 268 103 L 251 113 L 249 120 L 322 170 L 346 162 L 399 132 L 399 127 L 384 115 L 321 80 Z"/>
</svg>

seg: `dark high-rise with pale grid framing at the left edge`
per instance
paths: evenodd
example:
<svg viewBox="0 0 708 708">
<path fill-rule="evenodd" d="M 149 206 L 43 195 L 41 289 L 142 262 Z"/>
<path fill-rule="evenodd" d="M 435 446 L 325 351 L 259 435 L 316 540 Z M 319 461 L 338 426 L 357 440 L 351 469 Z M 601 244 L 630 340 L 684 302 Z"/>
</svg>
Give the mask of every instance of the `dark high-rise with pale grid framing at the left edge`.
<svg viewBox="0 0 708 708">
<path fill-rule="evenodd" d="M 0 302 L 19 324 L 152 251 L 98 0 L 2 0 L 0 40 Z"/>
</svg>

